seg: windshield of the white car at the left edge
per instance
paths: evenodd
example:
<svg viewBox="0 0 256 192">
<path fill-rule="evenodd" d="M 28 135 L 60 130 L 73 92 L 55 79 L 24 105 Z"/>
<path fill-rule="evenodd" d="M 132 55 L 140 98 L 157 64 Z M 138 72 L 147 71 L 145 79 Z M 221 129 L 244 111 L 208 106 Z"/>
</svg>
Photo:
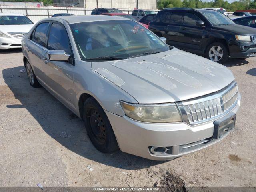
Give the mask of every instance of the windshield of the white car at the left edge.
<svg viewBox="0 0 256 192">
<path fill-rule="evenodd" d="M 26 16 L 0 16 L 0 25 L 29 25 L 33 22 Z"/>
</svg>

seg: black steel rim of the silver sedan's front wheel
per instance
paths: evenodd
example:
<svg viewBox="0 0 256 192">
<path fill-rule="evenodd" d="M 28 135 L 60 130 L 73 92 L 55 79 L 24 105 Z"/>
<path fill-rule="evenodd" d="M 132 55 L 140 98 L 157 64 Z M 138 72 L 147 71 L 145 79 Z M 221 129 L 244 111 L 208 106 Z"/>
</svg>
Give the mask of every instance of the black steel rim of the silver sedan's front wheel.
<svg viewBox="0 0 256 192">
<path fill-rule="evenodd" d="M 106 128 L 102 116 L 96 109 L 90 110 L 88 120 L 95 140 L 103 144 L 106 142 Z"/>
</svg>

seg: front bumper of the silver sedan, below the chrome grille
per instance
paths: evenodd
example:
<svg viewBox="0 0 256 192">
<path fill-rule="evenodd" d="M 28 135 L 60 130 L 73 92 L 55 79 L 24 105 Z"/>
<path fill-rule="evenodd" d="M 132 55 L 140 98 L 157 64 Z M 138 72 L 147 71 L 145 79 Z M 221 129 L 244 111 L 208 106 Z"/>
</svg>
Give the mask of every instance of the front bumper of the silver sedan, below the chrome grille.
<svg viewBox="0 0 256 192">
<path fill-rule="evenodd" d="M 240 106 L 240 98 L 230 113 L 236 113 Z M 178 123 L 146 123 L 132 120 L 127 116 L 117 116 L 105 111 L 121 151 L 151 160 L 171 160 L 211 146 L 221 139 L 212 139 L 214 120 L 198 125 Z M 224 116 L 220 116 L 222 118 Z M 216 120 L 216 119 L 215 119 Z M 171 147 L 171 154 L 155 155 L 149 147 Z"/>
</svg>

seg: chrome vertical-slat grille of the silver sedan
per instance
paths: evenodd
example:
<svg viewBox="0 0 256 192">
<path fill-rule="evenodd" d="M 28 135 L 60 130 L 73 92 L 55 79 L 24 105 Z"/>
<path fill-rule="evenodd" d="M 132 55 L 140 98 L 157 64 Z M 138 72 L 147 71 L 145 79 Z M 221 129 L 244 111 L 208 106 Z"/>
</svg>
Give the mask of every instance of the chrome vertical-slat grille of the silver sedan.
<svg viewBox="0 0 256 192">
<path fill-rule="evenodd" d="M 177 103 L 184 122 L 197 124 L 217 118 L 231 110 L 238 100 L 238 88 L 233 82 L 228 88 L 211 96 Z"/>
</svg>

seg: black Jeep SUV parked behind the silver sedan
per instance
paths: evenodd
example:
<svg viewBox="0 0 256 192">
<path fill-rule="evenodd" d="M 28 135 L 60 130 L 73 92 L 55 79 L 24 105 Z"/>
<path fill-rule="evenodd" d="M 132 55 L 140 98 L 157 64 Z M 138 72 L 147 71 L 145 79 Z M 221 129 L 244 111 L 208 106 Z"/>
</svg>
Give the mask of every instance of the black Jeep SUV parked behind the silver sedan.
<svg viewBox="0 0 256 192">
<path fill-rule="evenodd" d="M 148 28 L 166 43 L 224 62 L 256 56 L 256 29 L 235 24 L 213 10 L 170 8 L 158 12 Z"/>
</svg>

